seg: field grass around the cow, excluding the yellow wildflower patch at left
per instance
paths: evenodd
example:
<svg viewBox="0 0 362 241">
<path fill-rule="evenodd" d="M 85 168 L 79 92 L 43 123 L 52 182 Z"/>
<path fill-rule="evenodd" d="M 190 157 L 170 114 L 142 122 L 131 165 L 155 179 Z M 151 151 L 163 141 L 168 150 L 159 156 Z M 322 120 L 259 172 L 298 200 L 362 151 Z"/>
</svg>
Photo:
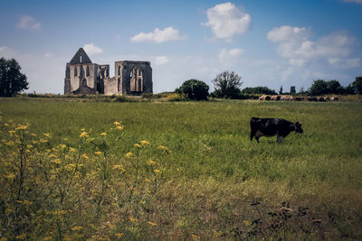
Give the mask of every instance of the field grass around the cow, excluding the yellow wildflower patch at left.
<svg viewBox="0 0 362 241">
<path fill-rule="evenodd" d="M 120 120 L 119 153 L 140 140 L 167 146 L 165 181 L 144 214 L 157 227 L 128 227 L 130 239 L 362 236 L 360 103 L 3 99 L 0 114 L 5 122 L 30 123 L 35 134 L 50 133 L 52 145 L 64 137 L 76 144 L 81 128 L 100 134 Z M 251 143 L 252 116 L 298 120 L 304 133 L 281 144 L 274 137 Z"/>
</svg>

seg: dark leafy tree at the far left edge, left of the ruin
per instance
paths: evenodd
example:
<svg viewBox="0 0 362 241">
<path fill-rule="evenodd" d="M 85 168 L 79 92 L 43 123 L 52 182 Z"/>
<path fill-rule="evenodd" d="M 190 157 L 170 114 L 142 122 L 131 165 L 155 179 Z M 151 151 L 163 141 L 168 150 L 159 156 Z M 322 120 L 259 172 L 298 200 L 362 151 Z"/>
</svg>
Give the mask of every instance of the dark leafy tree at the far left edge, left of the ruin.
<svg viewBox="0 0 362 241">
<path fill-rule="evenodd" d="M 24 89 L 28 89 L 29 83 L 20 70 L 21 67 L 16 60 L 0 59 L 0 97 L 11 97 Z"/>
</svg>

